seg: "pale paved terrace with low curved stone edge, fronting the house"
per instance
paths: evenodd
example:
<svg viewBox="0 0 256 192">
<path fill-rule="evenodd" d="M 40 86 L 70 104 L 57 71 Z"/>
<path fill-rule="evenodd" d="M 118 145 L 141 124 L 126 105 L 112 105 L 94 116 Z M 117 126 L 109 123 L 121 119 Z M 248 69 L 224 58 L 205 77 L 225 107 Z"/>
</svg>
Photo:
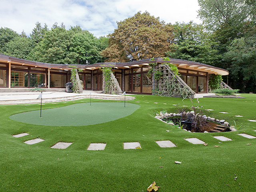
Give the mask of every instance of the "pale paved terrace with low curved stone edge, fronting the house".
<svg viewBox="0 0 256 192">
<path fill-rule="evenodd" d="M 24 89 L 23 89 L 24 90 Z M 0 104 L 30 104 L 30 103 L 40 103 L 40 99 L 36 99 L 40 92 L 2 92 L 0 91 Z M 90 90 L 83 90 L 83 93 L 67 93 L 64 89 L 59 89 L 55 91 L 47 91 L 42 93 L 42 103 L 49 102 L 63 102 L 78 100 L 84 98 L 90 98 Z M 92 91 L 92 99 L 103 99 L 103 100 L 124 100 L 124 95 L 110 95 L 103 94 L 101 91 Z M 134 100 L 135 97 L 125 96 L 126 100 Z"/>
</svg>

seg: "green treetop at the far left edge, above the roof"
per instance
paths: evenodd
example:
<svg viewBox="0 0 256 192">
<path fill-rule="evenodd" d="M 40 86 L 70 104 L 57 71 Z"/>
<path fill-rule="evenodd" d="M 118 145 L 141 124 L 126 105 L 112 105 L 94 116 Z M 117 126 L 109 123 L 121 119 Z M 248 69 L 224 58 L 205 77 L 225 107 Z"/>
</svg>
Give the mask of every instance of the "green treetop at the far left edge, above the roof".
<svg viewBox="0 0 256 192">
<path fill-rule="evenodd" d="M 6 43 L 10 42 L 13 38 L 18 37 L 19 34 L 10 28 L 0 28 L 0 52 L 5 52 Z"/>
</svg>

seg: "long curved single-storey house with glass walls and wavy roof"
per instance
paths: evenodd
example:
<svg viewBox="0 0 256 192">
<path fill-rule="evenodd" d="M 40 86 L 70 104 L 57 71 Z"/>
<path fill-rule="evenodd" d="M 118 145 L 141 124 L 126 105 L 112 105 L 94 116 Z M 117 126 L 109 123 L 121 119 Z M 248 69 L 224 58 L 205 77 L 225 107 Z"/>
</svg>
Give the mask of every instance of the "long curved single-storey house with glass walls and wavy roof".
<svg viewBox="0 0 256 192">
<path fill-rule="evenodd" d="M 84 90 L 104 89 L 104 78 L 100 67 L 102 67 L 101 65 L 111 65 L 114 76 L 123 92 L 152 94 L 152 90 L 158 86 L 154 82 L 154 78 L 147 75 L 151 69 L 150 63 L 153 62 L 156 63 L 156 68 L 160 68 L 164 63 L 176 65 L 180 73 L 179 82 L 194 93 L 208 92 L 208 76 L 210 74 L 228 75 L 227 70 L 214 66 L 180 59 L 166 61 L 164 58 L 76 66 L 82 69 L 82 72 L 79 72 L 79 77 L 82 80 Z M 70 81 L 70 74 L 69 64 L 49 64 L 0 54 L 1 88 L 64 88 L 65 84 Z"/>
</svg>

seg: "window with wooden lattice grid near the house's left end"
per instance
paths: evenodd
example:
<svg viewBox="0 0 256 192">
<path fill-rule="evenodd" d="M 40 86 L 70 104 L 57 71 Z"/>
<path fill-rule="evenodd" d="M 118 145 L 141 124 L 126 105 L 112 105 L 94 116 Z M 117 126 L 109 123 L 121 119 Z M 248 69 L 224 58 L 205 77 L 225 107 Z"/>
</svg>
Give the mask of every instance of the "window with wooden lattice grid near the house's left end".
<svg viewBox="0 0 256 192">
<path fill-rule="evenodd" d="M 11 86 L 12 87 L 27 87 L 28 72 L 11 71 Z"/>
</svg>

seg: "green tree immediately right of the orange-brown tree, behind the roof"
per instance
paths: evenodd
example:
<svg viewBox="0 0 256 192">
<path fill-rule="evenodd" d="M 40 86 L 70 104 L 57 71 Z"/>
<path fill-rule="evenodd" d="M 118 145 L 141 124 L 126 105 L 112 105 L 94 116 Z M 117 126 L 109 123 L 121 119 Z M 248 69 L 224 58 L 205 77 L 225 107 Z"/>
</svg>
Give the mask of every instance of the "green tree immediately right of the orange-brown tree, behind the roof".
<svg viewBox="0 0 256 192">
<path fill-rule="evenodd" d="M 174 27 L 174 43 L 170 46 L 168 57 L 201 62 L 213 65 L 216 62 L 217 50 L 201 24 L 193 22 L 178 23 Z"/>
</svg>

